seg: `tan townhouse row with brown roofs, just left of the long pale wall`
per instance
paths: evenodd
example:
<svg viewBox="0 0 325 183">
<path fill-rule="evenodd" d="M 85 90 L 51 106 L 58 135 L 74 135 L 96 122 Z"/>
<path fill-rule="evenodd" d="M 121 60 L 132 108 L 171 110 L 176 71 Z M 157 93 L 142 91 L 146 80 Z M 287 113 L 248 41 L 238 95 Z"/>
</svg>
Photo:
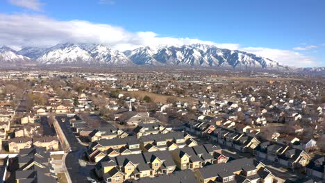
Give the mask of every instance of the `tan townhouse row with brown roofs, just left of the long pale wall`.
<svg viewBox="0 0 325 183">
<path fill-rule="evenodd" d="M 10 153 L 18 153 L 24 148 L 44 147 L 47 150 L 58 150 L 59 141 L 57 137 L 18 137 L 8 139 L 8 150 Z"/>
</svg>

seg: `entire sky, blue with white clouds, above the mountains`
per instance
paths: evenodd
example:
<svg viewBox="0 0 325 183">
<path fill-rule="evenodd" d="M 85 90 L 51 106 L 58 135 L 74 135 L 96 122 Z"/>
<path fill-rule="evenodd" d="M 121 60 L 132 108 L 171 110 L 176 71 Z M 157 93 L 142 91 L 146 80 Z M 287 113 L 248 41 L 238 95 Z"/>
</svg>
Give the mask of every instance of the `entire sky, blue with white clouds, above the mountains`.
<svg viewBox="0 0 325 183">
<path fill-rule="evenodd" d="M 1 0 L 0 44 L 67 40 L 131 49 L 201 42 L 293 66 L 325 66 L 324 8 L 316 0 Z"/>
</svg>

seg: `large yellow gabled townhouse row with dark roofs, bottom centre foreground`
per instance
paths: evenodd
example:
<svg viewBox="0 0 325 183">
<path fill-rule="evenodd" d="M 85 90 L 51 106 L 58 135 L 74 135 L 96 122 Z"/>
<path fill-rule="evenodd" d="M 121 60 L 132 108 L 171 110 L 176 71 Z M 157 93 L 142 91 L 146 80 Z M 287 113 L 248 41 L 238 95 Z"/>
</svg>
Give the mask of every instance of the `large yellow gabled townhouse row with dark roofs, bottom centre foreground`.
<svg viewBox="0 0 325 183">
<path fill-rule="evenodd" d="M 212 164 L 226 163 L 228 157 L 218 152 L 221 152 L 220 147 L 204 144 L 174 151 L 105 156 L 97 162 L 95 172 L 106 182 L 124 182 L 124 180 L 138 180 L 143 177 L 171 175 L 176 168 L 194 171 Z"/>
</svg>

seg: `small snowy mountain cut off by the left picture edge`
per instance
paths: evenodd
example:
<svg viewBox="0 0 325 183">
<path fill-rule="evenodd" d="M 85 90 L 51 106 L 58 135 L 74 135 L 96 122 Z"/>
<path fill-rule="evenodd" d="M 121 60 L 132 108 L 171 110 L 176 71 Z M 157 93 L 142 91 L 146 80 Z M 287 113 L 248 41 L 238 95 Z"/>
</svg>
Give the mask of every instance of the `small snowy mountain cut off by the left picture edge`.
<svg viewBox="0 0 325 183">
<path fill-rule="evenodd" d="M 17 51 L 6 46 L 0 48 L 0 63 L 1 64 L 28 64 L 31 58 L 19 55 Z"/>
</svg>

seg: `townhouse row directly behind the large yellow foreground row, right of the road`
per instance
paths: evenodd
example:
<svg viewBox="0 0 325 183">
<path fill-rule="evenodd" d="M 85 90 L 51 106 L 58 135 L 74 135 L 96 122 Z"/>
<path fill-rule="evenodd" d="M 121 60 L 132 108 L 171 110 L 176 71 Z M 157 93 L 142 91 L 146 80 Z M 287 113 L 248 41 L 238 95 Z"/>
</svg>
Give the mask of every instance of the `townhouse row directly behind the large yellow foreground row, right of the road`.
<svg viewBox="0 0 325 183">
<path fill-rule="evenodd" d="M 159 150 L 176 150 L 178 148 L 197 146 L 192 137 L 183 132 L 166 134 L 149 134 L 137 139 L 135 136 L 114 139 L 99 139 L 92 142 L 88 150 L 88 158 L 98 162 L 104 155 L 115 157 L 119 155 L 140 154 Z"/>
</svg>

